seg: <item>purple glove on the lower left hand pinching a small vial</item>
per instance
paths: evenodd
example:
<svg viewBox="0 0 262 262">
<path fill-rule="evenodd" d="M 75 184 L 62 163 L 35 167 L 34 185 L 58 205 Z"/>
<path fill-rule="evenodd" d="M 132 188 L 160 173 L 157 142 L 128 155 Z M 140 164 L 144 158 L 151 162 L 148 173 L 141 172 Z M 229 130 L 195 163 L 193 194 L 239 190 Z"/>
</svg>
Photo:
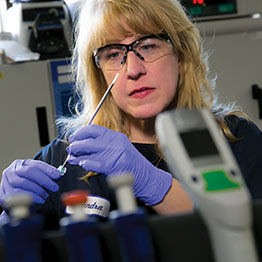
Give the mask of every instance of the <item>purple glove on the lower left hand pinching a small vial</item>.
<svg viewBox="0 0 262 262">
<path fill-rule="evenodd" d="M 56 192 L 54 180 L 61 177 L 53 166 L 39 160 L 15 160 L 3 171 L 0 185 L 0 204 L 17 193 L 27 193 L 36 204 L 43 204 L 48 197 L 46 190 Z"/>
</svg>

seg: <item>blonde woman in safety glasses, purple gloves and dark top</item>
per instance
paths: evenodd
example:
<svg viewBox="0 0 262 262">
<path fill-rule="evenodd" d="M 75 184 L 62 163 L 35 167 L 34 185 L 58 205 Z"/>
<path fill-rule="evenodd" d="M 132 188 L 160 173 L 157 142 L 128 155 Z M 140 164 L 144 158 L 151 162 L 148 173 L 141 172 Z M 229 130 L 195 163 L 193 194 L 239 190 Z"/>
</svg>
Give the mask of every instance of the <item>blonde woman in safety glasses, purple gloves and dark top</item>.
<svg viewBox="0 0 262 262">
<path fill-rule="evenodd" d="M 258 161 L 254 159 L 251 171 L 245 170 L 249 164 L 243 150 L 254 139 L 261 144 L 261 133 L 237 117 L 245 115 L 233 106 L 216 104 L 199 32 L 180 3 L 84 0 L 79 10 L 72 64 L 80 113 L 58 121 L 64 136 L 34 160 L 16 160 L 3 172 L 0 199 L 29 192 L 40 204 L 38 211 L 45 215 L 47 228 L 54 228 L 57 225 L 50 221 L 67 212 L 61 194 L 88 189 L 88 213 L 106 218 L 117 208 L 106 177 L 131 173 L 138 203 L 149 213 L 191 211 L 191 200 L 168 172 L 154 127 L 159 113 L 181 107 L 210 108 L 230 141 L 252 196 L 260 197 Z M 94 124 L 88 125 L 117 73 L 111 94 Z M 67 154 L 67 172 L 60 177 L 56 168 Z"/>
</svg>

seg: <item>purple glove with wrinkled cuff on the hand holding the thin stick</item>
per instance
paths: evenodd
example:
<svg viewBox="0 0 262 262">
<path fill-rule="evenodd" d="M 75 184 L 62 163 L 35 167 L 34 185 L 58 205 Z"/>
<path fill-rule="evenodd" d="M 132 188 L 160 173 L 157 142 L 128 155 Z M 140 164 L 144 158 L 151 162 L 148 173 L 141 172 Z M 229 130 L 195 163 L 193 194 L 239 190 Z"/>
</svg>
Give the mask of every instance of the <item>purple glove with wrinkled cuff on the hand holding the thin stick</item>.
<svg viewBox="0 0 262 262">
<path fill-rule="evenodd" d="M 152 206 L 163 200 L 172 175 L 152 165 L 120 132 L 88 125 L 69 138 L 68 162 L 106 176 L 132 174 L 137 198 Z"/>
</svg>

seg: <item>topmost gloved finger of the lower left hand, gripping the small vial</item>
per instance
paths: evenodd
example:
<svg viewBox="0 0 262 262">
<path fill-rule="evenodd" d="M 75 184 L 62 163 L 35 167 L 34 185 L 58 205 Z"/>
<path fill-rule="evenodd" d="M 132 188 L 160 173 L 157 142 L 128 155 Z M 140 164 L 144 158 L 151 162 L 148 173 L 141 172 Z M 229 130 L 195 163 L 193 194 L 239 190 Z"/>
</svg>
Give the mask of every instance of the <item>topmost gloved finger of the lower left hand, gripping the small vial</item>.
<svg viewBox="0 0 262 262">
<path fill-rule="evenodd" d="M 57 168 L 40 160 L 32 160 L 32 159 L 23 160 L 22 166 L 37 168 L 42 173 L 45 173 L 48 177 L 55 180 L 61 177 L 61 174 Z"/>
</svg>

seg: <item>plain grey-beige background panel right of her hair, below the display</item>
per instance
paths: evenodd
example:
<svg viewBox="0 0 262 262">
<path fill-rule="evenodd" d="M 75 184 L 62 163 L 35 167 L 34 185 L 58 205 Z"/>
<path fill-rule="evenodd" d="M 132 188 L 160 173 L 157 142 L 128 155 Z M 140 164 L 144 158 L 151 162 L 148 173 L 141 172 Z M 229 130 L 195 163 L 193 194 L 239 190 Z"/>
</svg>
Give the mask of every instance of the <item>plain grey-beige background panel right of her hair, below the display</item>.
<svg viewBox="0 0 262 262">
<path fill-rule="evenodd" d="M 217 88 L 220 102 L 236 102 L 262 128 L 262 119 L 259 119 L 258 101 L 252 97 L 251 86 L 257 84 L 262 88 L 262 23 L 259 20 L 260 30 L 252 31 L 249 21 L 243 25 L 231 28 L 229 33 L 209 30 L 204 36 L 205 50 L 209 52 L 209 63 L 212 74 L 217 74 Z M 254 22 L 253 20 L 251 21 Z M 227 23 L 230 23 L 228 21 Z M 261 26 L 260 26 L 261 25 Z M 200 29 L 205 27 L 200 25 Z M 242 30 L 241 30 L 242 28 Z M 248 30 L 246 29 L 248 28 Z"/>
</svg>

